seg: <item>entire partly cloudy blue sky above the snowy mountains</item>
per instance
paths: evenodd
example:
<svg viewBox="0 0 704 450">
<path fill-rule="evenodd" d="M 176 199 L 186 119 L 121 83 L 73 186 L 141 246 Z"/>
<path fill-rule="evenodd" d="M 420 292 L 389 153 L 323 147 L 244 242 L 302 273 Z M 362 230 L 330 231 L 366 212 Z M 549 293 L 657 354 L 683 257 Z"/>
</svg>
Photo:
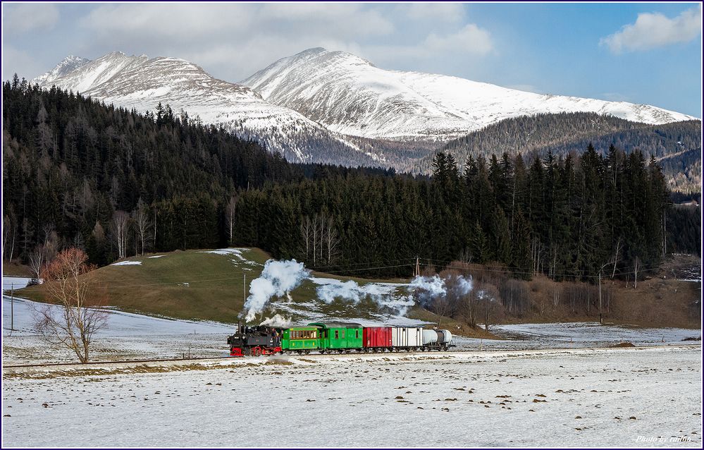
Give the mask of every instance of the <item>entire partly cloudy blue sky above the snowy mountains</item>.
<svg viewBox="0 0 704 450">
<path fill-rule="evenodd" d="M 3 4 L 3 79 L 177 56 L 228 81 L 310 47 L 381 68 L 702 116 L 699 4 Z"/>
</svg>

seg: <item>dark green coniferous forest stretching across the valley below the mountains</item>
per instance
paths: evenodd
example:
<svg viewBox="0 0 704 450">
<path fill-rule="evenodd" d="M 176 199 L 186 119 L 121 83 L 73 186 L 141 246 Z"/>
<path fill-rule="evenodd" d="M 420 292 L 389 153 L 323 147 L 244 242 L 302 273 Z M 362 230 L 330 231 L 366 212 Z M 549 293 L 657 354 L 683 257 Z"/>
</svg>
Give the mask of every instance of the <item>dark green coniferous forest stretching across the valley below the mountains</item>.
<svg viewBox="0 0 704 450">
<path fill-rule="evenodd" d="M 166 105 L 138 114 L 17 78 L 2 114 L 3 257 L 30 265 L 68 246 L 108 264 L 247 245 L 356 275 L 409 276 L 418 256 L 580 280 L 700 253 L 699 209 L 674 207 L 638 150 L 470 154 L 463 171 L 439 152 L 426 177 L 289 164 Z"/>
</svg>

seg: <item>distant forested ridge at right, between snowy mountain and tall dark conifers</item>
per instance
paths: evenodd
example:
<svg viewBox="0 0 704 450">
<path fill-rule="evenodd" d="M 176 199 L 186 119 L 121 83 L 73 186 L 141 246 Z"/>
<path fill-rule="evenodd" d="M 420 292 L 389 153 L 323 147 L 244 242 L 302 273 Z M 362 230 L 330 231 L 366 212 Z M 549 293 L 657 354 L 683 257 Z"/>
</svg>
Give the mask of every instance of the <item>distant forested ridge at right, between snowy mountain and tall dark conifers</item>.
<svg viewBox="0 0 704 450">
<path fill-rule="evenodd" d="M 440 150 L 460 164 L 469 155 L 500 155 L 507 152 L 581 154 L 590 143 L 605 155 L 614 146 L 626 153 L 643 152 L 662 166 L 671 190 L 701 193 L 701 121 L 648 125 L 596 113 L 537 114 L 508 118 L 467 136 L 448 142 Z M 416 162 L 416 170 L 432 170 L 433 155 Z"/>
</svg>

